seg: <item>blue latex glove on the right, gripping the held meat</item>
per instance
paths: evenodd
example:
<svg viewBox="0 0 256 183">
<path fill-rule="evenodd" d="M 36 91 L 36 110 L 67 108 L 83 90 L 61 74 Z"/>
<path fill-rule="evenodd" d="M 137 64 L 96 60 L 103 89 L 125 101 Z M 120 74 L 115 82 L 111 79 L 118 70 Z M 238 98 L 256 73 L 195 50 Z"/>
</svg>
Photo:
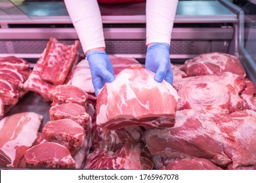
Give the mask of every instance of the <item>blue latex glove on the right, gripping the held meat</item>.
<svg viewBox="0 0 256 183">
<path fill-rule="evenodd" d="M 146 52 L 145 67 L 156 73 L 155 80 L 157 82 L 162 82 L 164 79 L 173 85 L 173 71 L 169 53 L 169 44 L 162 42 L 152 44 Z"/>
</svg>

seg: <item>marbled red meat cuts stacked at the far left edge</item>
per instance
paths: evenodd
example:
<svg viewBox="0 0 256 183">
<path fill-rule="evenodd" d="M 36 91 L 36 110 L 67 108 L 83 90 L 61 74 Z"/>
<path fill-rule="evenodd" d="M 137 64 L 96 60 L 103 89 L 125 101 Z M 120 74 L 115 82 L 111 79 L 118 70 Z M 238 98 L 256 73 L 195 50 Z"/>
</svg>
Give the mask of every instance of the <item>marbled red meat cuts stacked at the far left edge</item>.
<svg viewBox="0 0 256 183">
<path fill-rule="evenodd" d="M 27 93 L 23 84 L 31 73 L 28 61 L 0 58 L 0 119 Z"/>
</svg>

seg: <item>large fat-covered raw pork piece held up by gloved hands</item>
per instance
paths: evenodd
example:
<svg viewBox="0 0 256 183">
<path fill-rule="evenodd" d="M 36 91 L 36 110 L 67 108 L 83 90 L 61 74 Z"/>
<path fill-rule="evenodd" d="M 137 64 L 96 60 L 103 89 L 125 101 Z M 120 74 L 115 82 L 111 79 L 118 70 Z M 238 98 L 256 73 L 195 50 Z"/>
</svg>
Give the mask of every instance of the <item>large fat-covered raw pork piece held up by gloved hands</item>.
<svg viewBox="0 0 256 183">
<path fill-rule="evenodd" d="M 152 71 L 131 66 L 100 90 L 96 124 L 108 129 L 127 125 L 172 127 L 178 99 L 176 90 L 165 80 L 158 83 Z"/>
</svg>

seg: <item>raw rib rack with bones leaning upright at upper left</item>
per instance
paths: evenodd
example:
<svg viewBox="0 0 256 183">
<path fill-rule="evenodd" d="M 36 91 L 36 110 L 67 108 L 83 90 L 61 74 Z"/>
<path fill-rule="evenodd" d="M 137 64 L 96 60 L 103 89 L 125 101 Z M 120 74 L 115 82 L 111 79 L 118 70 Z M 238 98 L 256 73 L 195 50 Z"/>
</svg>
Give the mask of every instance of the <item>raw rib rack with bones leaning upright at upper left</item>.
<svg viewBox="0 0 256 183">
<path fill-rule="evenodd" d="M 52 69 L 54 69 L 54 71 L 51 70 L 51 72 L 49 73 L 49 69 L 46 69 L 45 65 L 49 63 L 49 60 L 53 60 L 53 58 L 58 58 L 60 55 L 64 55 L 64 58 L 69 58 L 67 61 L 62 60 L 67 62 L 63 62 L 64 65 L 77 63 L 77 59 L 80 59 L 79 54 L 77 54 L 77 41 L 75 42 L 75 45 L 69 47 L 64 43 L 60 43 L 56 39 L 51 38 L 47 44 L 47 47 L 41 54 L 40 58 L 37 60 L 35 66 L 33 67 L 32 74 L 24 83 L 25 90 L 38 93 L 39 95 L 41 95 L 44 101 L 52 101 L 51 90 L 55 87 L 54 84 L 60 83 L 60 80 L 62 82 L 62 80 L 64 80 L 64 78 L 68 76 L 68 70 L 55 70 L 57 68 L 60 68 L 58 65 L 59 63 L 56 61 L 51 67 Z M 70 68 L 71 67 L 69 67 L 69 69 Z M 54 80 L 56 80 L 56 82 L 54 82 Z M 49 81 L 53 82 L 54 84 L 50 83 Z"/>
</svg>

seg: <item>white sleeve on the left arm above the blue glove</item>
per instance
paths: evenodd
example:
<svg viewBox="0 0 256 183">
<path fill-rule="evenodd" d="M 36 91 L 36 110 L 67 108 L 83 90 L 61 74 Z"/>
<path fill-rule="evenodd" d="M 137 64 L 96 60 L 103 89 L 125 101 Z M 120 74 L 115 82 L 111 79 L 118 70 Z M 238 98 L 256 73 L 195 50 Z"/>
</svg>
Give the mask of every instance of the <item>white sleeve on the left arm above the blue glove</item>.
<svg viewBox="0 0 256 183">
<path fill-rule="evenodd" d="M 96 0 L 64 0 L 83 52 L 105 48 L 100 9 Z"/>
</svg>

